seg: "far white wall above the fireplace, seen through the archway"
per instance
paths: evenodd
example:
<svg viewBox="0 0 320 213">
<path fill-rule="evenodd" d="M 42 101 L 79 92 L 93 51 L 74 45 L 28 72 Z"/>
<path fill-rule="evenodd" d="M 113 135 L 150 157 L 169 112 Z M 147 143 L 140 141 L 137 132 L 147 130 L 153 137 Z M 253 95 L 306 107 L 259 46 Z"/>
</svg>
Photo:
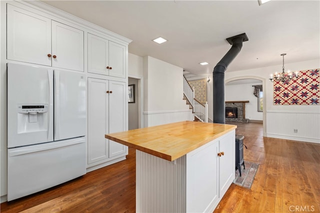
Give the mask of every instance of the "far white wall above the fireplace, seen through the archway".
<svg viewBox="0 0 320 213">
<path fill-rule="evenodd" d="M 262 111 L 257 110 L 257 97 L 254 96 L 252 85 L 259 85 L 260 83 L 225 85 L 224 96 L 225 101 L 230 100 L 248 100 L 245 103 L 245 118 L 250 120 L 263 120 Z M 263 88 L 262 88 L 263 89 Z"/>
</svg>

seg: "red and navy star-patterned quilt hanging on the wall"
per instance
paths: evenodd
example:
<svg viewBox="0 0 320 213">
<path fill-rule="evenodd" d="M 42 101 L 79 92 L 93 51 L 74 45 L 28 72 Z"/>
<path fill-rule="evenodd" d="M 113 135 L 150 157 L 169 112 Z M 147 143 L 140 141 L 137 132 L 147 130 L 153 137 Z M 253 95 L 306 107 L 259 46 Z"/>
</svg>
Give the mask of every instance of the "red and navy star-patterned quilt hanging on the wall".
<svg viewBox="0 0 320 213">
<path fill-rule="evenodd" d="M 299 71 L 297 79 L 273 82 L 273 105 L 318 105 L 319 99 L 319 68 Z"/>
</svg>

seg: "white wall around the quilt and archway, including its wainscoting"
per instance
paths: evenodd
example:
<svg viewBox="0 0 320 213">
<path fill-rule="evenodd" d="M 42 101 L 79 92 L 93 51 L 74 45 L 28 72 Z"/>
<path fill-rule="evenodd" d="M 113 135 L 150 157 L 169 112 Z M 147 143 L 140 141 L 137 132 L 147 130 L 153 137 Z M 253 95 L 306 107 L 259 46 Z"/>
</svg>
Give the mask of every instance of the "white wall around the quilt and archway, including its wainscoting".
<svg viewBox="0 0 320 213">
<path fill-rule="evenodd" d="M 281 67 L 279 64 L 256 69 L 226 71 L 224 80 L 226 82 L 247 76 L 247 78 L 258 77 L 264 81 L 265 136 L 320 143 L 320 105 L 273 105 L 273 83 L 268 78 L 270 73 L 281 71 Z M 319 59 L 285 64 L 285 69 L 291 71 L 319 67 Z M 310 119 L 312 125 L 309 125 Z M 294 128 L 298 129 L 297 133 L 293 132 Z"/>
</svg>

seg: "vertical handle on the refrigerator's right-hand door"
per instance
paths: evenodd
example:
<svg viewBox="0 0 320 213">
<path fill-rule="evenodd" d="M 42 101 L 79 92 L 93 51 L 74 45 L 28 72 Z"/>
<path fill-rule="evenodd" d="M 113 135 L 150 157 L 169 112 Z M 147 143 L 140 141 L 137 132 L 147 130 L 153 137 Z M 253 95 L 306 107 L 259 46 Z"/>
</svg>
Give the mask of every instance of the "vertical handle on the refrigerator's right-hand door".
<svg viewBox="0 0 320 213">
<path fill-rule="evenodd" d="M 54 140 L 60 139 L 60 71 L 54 70 Z"/>
</svg>

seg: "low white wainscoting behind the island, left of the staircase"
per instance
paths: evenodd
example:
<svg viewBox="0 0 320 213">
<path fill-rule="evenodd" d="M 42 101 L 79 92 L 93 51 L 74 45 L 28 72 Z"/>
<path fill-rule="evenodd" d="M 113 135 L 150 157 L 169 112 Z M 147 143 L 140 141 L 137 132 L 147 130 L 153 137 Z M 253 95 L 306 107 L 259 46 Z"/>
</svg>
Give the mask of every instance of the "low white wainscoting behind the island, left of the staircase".
<svg viewBox="0 0 320 213">
<path fill-rule="evenodd" d="M 144 127 L 194 119 L 191 109 L 172 111 L 145 111 L 143 112 L 143 115 Z"/>
</svg>

